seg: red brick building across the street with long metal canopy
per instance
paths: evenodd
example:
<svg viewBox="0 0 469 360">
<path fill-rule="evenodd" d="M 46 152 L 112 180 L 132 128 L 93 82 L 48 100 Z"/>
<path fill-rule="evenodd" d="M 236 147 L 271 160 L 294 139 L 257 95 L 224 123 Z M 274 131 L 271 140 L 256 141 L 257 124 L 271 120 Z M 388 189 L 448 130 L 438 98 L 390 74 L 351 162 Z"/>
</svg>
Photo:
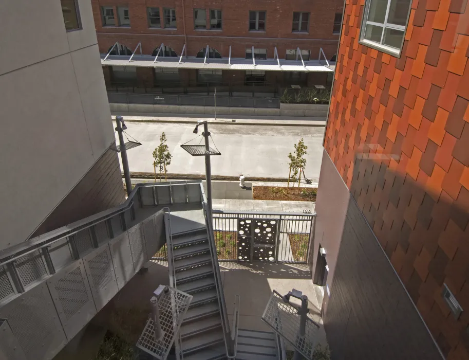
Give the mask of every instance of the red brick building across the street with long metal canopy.
<svg viewBox="0 0 469 360">
<path fill-rule="evenodd" d="M 276 87 L 313 86 L 332 80 L 341 0 L 91 3 L 102 59 L 119 43 L 103 61 L 108 86 L 177 88 L 235 83 Z M 136 49 L 138 44 L 141 51 Z M 253 49 L 256 65 L 252 64 Z M 127 62 L 134 50 L 133 61 Z M 322 60 L 318 61 L 320 52 Z"/>
</svg>

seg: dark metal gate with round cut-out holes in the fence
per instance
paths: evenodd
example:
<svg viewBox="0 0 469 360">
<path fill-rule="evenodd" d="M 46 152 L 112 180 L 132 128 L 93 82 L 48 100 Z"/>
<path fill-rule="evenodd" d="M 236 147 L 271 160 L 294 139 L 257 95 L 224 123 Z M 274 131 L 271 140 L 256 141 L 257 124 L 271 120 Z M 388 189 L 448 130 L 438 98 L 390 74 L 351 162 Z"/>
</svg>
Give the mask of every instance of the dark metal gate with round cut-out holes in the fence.
<svg viewBox="0 0 469 360">
<path fill-rule="evenodd" d="M 238 260 L 274 262 L 277 225 L 278 219 L 238 218 Z"/>
</svg>

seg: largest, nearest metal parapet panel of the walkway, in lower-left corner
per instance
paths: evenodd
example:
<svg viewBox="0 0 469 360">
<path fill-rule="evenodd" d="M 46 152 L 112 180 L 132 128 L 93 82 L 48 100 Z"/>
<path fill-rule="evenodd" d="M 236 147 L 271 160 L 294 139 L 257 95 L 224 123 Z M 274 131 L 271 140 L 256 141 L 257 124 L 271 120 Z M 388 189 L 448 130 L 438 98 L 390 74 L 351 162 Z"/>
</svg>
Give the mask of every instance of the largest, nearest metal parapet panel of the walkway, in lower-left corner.
<svg viewBox="0 0 469 360">
<path fill-rule="evenodd" d="M 67 344 L 45 283 L 2 305 L 0 318 L 8 320 L 28 359 L 50 359 Z"/>
</svg>

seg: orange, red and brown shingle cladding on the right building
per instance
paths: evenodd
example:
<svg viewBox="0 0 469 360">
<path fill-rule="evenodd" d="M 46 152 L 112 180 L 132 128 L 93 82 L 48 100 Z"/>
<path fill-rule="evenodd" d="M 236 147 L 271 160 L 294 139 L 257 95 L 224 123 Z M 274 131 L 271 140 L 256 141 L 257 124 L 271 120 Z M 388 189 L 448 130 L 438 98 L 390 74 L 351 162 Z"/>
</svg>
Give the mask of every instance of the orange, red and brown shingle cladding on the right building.
<svg viewBox="0 0 469 360">
<path fill-rule="evenodd" d="M 359 43 L 364 4 L 346 2 L 325 149 L 442 353 L 469 359 L 469 6 L 413 0 L 397 58 Z"/>
</svg>

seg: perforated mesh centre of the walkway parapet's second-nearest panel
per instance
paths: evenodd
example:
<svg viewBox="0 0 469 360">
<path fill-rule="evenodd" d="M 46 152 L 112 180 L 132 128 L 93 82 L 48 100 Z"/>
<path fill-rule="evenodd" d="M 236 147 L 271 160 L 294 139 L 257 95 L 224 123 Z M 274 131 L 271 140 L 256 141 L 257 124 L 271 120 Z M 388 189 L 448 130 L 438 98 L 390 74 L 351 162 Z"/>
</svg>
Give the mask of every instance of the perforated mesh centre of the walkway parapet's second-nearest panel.
<svg viewBox="0 0 469 360">
<path fill-rule="evenodd" d="M 54 288 L 59 294 L 59 300 L 67 320 L 88 302 L 88 293 L 86 292 L 80 267 L 55 282 Z"/>
</svg>

